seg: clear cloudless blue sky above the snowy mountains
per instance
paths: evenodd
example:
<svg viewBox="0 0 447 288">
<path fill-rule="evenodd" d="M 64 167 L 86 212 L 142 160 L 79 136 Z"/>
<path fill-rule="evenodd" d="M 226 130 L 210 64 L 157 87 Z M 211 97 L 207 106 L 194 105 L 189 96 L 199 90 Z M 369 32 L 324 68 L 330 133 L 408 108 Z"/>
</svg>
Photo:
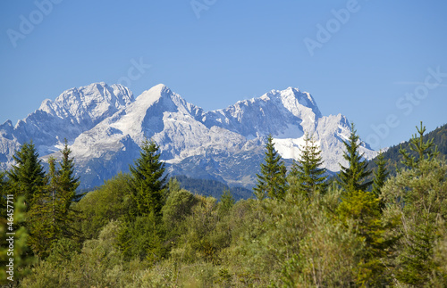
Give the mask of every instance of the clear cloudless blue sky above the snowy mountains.
<svg viewBox="0 0 447 288">
<path fill-rule="evenodd" d="M 104 81 L 158 83 L 205 110 L 299 87 L 373 148 L 447 108 L 447 2 L 36 0 L 0 2 L 0 122 Z"/>
</svg>

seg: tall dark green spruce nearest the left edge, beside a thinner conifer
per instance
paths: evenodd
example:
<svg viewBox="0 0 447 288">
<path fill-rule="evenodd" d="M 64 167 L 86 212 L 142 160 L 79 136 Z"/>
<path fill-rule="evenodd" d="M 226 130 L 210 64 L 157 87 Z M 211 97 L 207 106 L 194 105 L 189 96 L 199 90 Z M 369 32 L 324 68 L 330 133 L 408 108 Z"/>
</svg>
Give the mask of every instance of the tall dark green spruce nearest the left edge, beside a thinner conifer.
<svg viewBox="0 0 447 288">
<path fill-rule="evenodd" d="M 45 182 L 45 171 L 41 160 L 38 160 L 38 152 L 32 141 L 30 144 L 21 145 L 21 149 L 15 152 L 13 159 L 16 165 L 8 171 L 8 177 L 13 186 L 14 193 L 23 195 L 26 210 L 30 210 L 34 199 L 38 198 Z"/>
</svg>

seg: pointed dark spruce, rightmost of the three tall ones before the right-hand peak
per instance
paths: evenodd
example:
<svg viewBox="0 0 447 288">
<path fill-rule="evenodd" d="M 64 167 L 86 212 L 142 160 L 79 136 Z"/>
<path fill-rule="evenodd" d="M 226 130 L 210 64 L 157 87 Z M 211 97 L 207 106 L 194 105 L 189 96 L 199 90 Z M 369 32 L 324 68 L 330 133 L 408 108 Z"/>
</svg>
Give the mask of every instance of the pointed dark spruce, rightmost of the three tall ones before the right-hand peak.
<svg viewBox="0 0 447 288">
<path fill-rule="evenodd" d="M 366 180 L 371 175 L 371 171 L 367 170 L 367 160 L 362 160 L 363 154 L 359 152 L 360 142 L 353 123 L 350 138 L 344 142 L 344 146 L 343 159 L 348 161 L 348 166 L 344 167 L 340 164 L 341 169 L 337 181 L 346 192 L 366 191 L 372 183 L 372 181 Z"/>
</svg>

